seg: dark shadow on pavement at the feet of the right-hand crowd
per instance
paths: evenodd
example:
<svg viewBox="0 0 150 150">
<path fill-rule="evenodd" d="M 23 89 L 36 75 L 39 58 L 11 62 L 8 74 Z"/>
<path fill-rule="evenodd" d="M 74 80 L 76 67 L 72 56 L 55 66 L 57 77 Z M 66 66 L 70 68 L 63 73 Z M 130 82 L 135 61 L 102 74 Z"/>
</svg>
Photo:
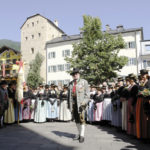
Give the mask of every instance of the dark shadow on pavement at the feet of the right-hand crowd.
<svg viewBox="0 0 150 150">
<path fill-rule="evenodd" d="M 129 145 L 121 148 L 120 150 L 150 150 L 150 143 L 145 143 L 145 141 L 138 140 L 136 137 L 129 136 L 125 132 L 118 130 L 117 128 L 111 126 L 101 126 L 96 125 L 101 131 L 107 132 L 107 134 L 113 135 L 114 141 L 116 142 L 126 142 Z"/>
</svg>

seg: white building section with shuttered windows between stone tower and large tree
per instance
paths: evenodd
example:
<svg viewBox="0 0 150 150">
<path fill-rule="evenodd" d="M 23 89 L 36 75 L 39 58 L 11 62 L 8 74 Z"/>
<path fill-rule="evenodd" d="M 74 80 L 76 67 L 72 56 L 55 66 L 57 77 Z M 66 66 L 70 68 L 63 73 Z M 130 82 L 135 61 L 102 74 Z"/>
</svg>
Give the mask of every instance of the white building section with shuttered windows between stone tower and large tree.
<svg viewBox="0 0 150 150">
<path fill-rule="evenodd" d="M 72 77 L 67 71 L 70 64 L 65 61 L 65 57 L 70 57 L 73 51 L 73 44 L 79 42 L 80 35 L 62 36 L 47 42 L 47 84 L 62 86 L 68 84 Z"/>
</svg>

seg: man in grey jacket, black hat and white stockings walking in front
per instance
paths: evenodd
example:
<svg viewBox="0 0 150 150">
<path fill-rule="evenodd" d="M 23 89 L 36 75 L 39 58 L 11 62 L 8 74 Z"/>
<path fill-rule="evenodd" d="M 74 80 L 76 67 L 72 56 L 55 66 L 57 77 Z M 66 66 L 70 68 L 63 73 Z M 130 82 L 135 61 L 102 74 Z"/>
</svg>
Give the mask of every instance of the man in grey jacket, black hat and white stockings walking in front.
<svg viewBox="0 0 150 150">
<path fill-rule="evenodd" d="M 80 72 L 78 68 L 74 68 L 71 72 L 73 81 L 69 84 L 69 99 L 68 107 L 73 114 L 75 123 L 78 129 L 78 135 L 74 140 L 79 140 L 80 143 L 84 142 L 85 132 L 85 108 L 90 99 L 90 91 L 88 82 L 80 78 Z"/>
</svg>

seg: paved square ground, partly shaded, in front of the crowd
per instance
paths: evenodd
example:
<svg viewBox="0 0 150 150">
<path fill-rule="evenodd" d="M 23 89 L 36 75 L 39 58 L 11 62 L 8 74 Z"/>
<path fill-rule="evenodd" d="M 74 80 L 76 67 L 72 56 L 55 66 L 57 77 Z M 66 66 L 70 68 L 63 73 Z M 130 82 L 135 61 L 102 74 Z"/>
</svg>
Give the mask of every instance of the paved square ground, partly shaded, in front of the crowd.
<svg viewBox="0 0 150 150">
<path fill-rule="evenodd" d="M 0 129 L 0 150 L 150 150 L 150 144 L 111 127 L 86 126 L 84 143 L 73 141 L 75 123 L 21 123 Z"/>
</svg>

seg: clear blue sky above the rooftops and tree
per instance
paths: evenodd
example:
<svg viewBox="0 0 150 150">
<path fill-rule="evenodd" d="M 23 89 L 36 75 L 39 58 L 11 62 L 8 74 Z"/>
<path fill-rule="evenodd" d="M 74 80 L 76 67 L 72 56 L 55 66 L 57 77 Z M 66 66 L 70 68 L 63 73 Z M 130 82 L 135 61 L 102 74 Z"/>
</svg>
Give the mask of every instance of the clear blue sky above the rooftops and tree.
<svg viewBox="0 0 150 150">
<path fill-rule="evenodd" d="M 82 16 L 91 15 L 101 19 L 103 30 L 106 24 L 143 27 L 144 39 L 150 39 L 150 0 L 1 0 L 0 39 L 20 41 L 20 27 L 37 13 L 57 19 L 68 35 L 78 34 Z"/>
</svg>

